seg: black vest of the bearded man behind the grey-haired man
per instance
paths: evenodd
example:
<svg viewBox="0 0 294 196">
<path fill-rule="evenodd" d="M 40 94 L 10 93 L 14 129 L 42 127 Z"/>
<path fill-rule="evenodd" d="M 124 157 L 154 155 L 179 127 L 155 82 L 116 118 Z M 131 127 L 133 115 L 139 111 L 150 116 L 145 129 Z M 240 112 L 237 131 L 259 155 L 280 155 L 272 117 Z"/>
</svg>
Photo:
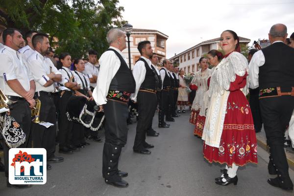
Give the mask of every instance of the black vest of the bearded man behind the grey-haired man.
<svg viewBox="0 0 294 196">
<path fill-rule="evenodd" d="M 147 62 L 145 61 L 145 59 L 143 59 L 143 58 L 140 58 L 138 61 L 143 61 L 145 64 L 145 68 L 146 68 L 145 79 L 144 79 L 143 83 L 141 84 L 140 88 L 148 88 L 148 89 L 157 90 L 158 78 L 156 76 L 157 73 L 156 73 L 155 69 L 154 70 L 151 69 L 149 67 L 149 65 L 147 64 Z"/>
</svg>

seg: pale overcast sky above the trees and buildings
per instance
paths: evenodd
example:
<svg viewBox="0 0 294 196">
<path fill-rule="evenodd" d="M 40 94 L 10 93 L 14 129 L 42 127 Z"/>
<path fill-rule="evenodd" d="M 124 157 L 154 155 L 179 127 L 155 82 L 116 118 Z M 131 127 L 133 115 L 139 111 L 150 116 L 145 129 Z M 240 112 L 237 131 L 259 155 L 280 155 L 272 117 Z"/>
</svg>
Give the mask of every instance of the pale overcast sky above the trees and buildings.
<svg viewBox="0 0 294 196">
<path fill-rule="evenodd" d="M 288 37 L 294 32 L 294 0 L 120 0 L 119 5 L 133 28 L 169 36 L 167 58 L 226 29 L 252 42 L 267 39 L 275 23 L 287 26 Z"/>
</svg>

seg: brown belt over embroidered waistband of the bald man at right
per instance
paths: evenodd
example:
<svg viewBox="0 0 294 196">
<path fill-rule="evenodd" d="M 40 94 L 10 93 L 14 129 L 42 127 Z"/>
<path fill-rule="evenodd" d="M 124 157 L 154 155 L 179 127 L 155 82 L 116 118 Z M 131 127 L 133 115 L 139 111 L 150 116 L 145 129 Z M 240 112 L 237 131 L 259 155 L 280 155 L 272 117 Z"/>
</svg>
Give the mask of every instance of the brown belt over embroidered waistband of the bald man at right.
<svg viewBox="0 0 294 196">
<path fill-rule="evenodd" d="M 281 92 L 281 88 L 288 92 Z M 289 92 L 289 90 L 292 90 Z M 259 99 L 267 97 L 294 96 L 294 87 L 270 87 L 259 90 Z"/>
</svg>

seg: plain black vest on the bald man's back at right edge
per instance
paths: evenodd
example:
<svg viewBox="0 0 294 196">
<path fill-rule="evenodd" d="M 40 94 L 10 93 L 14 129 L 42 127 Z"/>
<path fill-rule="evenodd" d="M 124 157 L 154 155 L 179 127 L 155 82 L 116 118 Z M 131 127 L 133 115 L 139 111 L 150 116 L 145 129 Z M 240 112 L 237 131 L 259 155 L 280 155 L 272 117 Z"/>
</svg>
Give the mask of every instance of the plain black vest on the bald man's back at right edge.
<svg viewBox="0 0 294 196">
<path fill-rule="evenodd" d="M 259 89 L 294 87 L 294 48 L 278 42 L 262 52 L 265 64 L 259 67 Z"/>
</svg>

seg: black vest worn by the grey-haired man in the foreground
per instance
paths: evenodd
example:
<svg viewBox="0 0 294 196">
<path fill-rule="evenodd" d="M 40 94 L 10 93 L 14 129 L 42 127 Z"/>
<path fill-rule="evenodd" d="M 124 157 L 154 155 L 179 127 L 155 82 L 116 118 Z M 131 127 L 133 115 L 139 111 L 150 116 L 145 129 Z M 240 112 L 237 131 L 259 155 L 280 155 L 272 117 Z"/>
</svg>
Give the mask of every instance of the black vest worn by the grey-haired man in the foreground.
<svg viewBox="0 0 294 196">
<path fill-rule="evenodd" d="M 118 72 L 113 77 L 109 86 L 109 90 L 119 90 L 131 93 L 135 92 L 136 82 L 132 71 L 125 63 L 123 57 L 115 49 L 108 48 L 106 51 L 109 50 L 114 51 L 114 53 L 119 57 L 121 61 L 121 66 Z"/>
</svg>

